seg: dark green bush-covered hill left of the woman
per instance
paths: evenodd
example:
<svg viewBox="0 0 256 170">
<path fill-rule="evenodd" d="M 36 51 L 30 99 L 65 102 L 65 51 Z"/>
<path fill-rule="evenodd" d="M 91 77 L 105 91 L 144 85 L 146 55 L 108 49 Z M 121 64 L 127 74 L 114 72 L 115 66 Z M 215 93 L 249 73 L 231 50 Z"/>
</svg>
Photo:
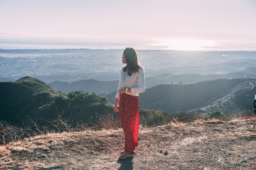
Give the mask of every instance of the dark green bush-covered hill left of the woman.
<svg viewBox="0 0 256 170">
<path fill-rule="evenodd" d="M 113 112 L 113 106 L 107 104 L 105 97 L 81 91 L 56 92 L 50 85 L 32 77 L 0 82 L 0 96 L 0 120 L 17 126 L 23 123 L 45 125 L 47 120 L 60 116 L 70 117 L 70 122 L 74 123 L 82 120 L 84 124 L 93 117 L 91 123 L 94 124 L 97 114 Z"/>
</svg>

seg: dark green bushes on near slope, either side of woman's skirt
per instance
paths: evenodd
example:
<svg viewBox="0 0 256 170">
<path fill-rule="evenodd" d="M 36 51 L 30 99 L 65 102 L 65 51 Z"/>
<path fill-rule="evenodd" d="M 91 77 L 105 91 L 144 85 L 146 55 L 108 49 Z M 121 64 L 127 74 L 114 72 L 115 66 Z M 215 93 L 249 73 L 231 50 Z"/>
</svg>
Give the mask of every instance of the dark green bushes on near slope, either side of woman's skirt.
<svg viewBox="0 0 256 170">
<path fill-rule="evenodd" d="M 63 128 L 68 131 L 72 129 L 72 125 L 82 129 L 101 129 L 104 124 L 111 126 L 111 122 L 119 121 L 118 113 L 114 113 L 113 105 L 108 104 L 105 97 L 77 90 L 65 94 L 54 91 L 50 85 L 31 77 L 15 82 L 0 82 L 0 95 L 0 123 L 6 122 L 10 127 L 30 126 L 34 130 L 40 127 L 38 132 L 41 133 L 42 128 L 50 131 L 53 127 L 59 131 L 61 128 L 56 127 L 59 125 L 64 125 Z M 183 118 L 186 116 L 189 117 Z M 195 116 L 186 112 L 140 109 L 142 126 L 168 124 L 173 117 L 183 118 L 186 122 L 195 120 Z M 58 125 L 54 126 L 52 123 Z M 0 130 L 1 126 L 4 128 L 8 125 L 0 124 Z M 117 127 L 120 128 L 121 125 L 118 124 Z"/>
</svg>

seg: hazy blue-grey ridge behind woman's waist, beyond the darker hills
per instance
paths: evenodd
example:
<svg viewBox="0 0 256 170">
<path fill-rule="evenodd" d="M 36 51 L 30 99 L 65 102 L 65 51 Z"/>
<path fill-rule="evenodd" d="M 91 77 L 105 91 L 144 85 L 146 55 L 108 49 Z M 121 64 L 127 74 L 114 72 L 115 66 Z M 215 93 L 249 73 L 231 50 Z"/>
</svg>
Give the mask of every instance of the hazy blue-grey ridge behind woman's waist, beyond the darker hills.
<svg viewBox="0 0 256 170">
<path fill-rule="evenodd" d="M 254 74 L 248 74 L 245 72 L 234 72 L 229 74 L 172 74 L 165 73 L 157 76 L 146 77 L 146 88 L 157 86 L 160 84 L 168 83 L 196 83 L 200 81 L 215 80 L 221 78 L 241 78 L 241 77 L 256 77 Z M 53 89 L 60 90 L 64 93 L 69 93 L 70 91 L 84 91 L 89 93 L 100 94 L 102 92 L 111 93 L 118 87 L 119 80 L 113 81 L 99 81 L 99 80 L 81 80 L 74 82 L 62 82 L 62 81 L 53 81 L 49 83 Z"/>
</svg>

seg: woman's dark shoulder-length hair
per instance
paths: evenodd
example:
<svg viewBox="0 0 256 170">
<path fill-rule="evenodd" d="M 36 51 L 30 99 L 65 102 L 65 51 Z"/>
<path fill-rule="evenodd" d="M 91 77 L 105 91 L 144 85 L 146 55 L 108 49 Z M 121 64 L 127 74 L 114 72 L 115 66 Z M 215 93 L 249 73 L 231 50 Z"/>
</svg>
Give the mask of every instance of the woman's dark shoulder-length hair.
<svg viewBox="0 0 256 170">
<path fill-rule="evenodd" d="M 126 59 L 126 66 L 124 67 L 123 71 L 126 72 L 127 70 L 127 74 L 129 76 L 131 76 L 132 73 L 135 73 L 136 71 L 139 73 L 139 68 L 142 66 L 138 61 L 136 51 L 131 47 L 127 47 L 124 49 L 124 56 Z"/>
</svg>

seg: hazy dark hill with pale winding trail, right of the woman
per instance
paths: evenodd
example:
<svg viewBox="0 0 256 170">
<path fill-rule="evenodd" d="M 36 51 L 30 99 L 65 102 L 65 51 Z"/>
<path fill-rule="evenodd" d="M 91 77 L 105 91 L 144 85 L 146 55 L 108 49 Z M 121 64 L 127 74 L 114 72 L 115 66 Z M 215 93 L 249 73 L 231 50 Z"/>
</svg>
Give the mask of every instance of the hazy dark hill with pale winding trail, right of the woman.
<svg viewBox="0 0 256 170">
<path fill-rule="evenodd" d="M 140 94 L 140 108 L 193 112 L 211 112 L 224 108 L 250 110 L 256 94 L 255 85 L 256 78 L 162 84 Z M 109 103 L 114 103 L 116 91 L 103 96 Z"/>
</svg>

